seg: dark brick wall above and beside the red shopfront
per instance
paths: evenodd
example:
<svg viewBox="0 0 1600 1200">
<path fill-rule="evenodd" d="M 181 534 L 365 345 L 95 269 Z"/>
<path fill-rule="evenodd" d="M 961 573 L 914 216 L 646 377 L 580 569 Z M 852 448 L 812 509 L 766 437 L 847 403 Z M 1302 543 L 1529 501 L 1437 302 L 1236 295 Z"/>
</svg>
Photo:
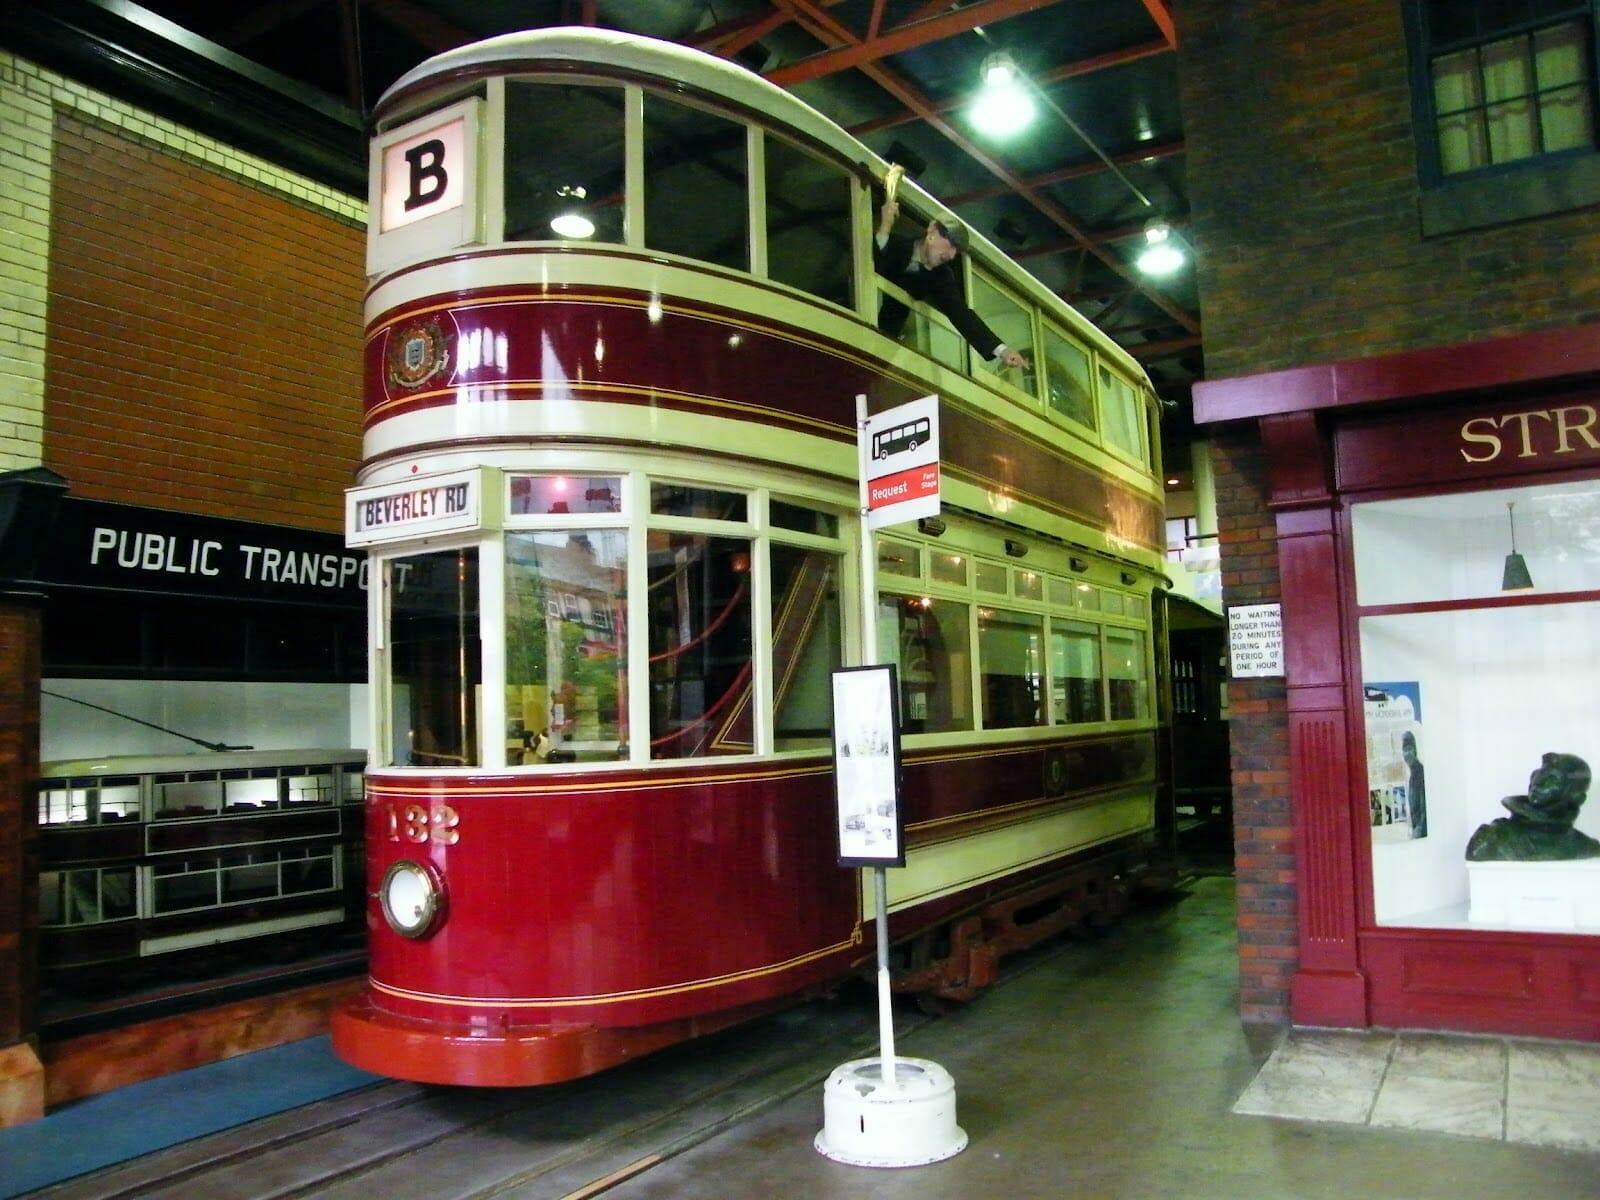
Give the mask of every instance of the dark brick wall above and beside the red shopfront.
<svg viewBox="0 0 1600 1200">
<path fill-rule="evenodd" d="M 1206 376 L 1592 322 L 1600 216 L 1424 237 L 1402 6 L 1174 6 Z M 1216 438 L 1224 603 L 1278 598 L 1253 426 Z M 1288 1021 L 1296 965 L 1282 680 L 1235 680 L 1240 1011 Z"/>
</svg>

